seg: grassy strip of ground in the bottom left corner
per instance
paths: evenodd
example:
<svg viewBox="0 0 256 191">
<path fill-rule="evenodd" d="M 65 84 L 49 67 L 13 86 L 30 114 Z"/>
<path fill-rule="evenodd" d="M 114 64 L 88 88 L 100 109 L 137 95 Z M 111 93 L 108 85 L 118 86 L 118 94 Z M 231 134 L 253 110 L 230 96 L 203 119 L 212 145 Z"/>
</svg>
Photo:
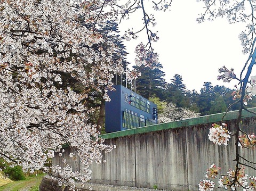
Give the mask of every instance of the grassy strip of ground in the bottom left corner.
<svg viewBox="0 0 256 191">
<path fill-rule="evenodd" d="M 9 184 L 1 186 L 0 179 L 0 191 L 38 191 L 39 185 L 45 174 L 40 174 L 37 176 L 26 177 L 26 180 L 19 180 L 9 182 Z"/>
</svg>

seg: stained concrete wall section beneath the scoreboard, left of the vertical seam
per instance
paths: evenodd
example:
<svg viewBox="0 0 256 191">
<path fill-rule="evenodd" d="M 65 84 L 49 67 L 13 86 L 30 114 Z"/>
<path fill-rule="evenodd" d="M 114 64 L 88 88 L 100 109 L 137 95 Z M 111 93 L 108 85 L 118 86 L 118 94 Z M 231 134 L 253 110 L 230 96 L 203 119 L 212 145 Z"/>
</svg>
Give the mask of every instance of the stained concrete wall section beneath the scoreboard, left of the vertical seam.
<svg viewBox="0 0 256 191">
<path fill-rule="evenodd" d="M 134 136 L 108 139 L 107 144 L 117 145 L 117 147 L 111 154 L 103 155 L 103 160 L 106 160 L 106 163 L 92 165 L 93 180 L 90 182 L 136 187 L 134 143 Z"/>
</svg>

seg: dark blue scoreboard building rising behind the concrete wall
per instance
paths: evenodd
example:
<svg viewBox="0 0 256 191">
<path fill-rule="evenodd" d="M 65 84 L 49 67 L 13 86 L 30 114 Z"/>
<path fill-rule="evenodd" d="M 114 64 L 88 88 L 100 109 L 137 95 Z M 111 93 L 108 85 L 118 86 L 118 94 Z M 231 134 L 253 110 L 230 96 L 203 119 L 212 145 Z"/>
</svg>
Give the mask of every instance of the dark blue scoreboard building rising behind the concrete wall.
<svg viewBox="0 0 256 191">
<path fill-rule="evenodd" d="M 106 132 L 116 132 L 157 124 L 157 105 L 124 86 L 109 91 L 105 103 Z"/>
</svg>

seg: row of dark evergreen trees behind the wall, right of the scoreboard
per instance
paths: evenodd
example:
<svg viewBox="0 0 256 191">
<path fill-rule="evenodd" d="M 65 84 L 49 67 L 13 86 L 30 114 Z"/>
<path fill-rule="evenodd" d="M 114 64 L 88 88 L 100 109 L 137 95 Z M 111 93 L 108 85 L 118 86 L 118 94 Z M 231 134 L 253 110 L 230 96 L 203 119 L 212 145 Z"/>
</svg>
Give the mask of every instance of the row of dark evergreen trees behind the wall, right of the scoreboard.
<svg viewBox="0 0 256 191">
<path fill-rule="evenodd" d="M 186 89 L 179 74 L 175 74 L 171 82 L 167 83 L 162 68 L 160 63 L 154 68 L 134 67 L 141 72 L 141 76 L 136 80 L 136 93 L 147 99 L 157 97 L 158 99 L 154 99 L 154 101 L 160 105 L 159 113 L 162 112 L 159 102 L 172 103 L 178 108 L 186 108 L 200 115 L 221 113 L 227 109 L 228 111 L 239 109 L 239 105 L 233 104 L 235 89 L 218 85 L 212 86 L 211 82 L 204 82 L 199 93 L 196 90 L 190 91 Z M 250 101 L 248 106 L 254 107 L 256 102 Z"/>
</svg>

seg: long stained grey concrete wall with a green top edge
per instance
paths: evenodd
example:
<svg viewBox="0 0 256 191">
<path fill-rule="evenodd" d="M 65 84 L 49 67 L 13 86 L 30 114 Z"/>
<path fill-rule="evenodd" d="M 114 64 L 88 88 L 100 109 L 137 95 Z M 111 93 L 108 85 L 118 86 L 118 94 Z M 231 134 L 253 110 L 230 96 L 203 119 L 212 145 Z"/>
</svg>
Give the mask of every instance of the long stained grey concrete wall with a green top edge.
<svg viewBox="0 0 256 191">
<path fill-rule="evenodd" d="M 255 108 L 252 109 L 256 111 Z M 225 174 L 234 168 L 235 145 L 214 145 L 208 139 L 213 122 L 219 123 L 223 114 L 208 115 L 125 130 L 103 135 L 106 144 L 116 145 L 111 153 L 103 155 L 106 163 L 91 165 L 91 182 L 165 190 L 198 190 L 199 180 L 213 162 Z M 225 122 L 232 129 L 237 112 L 229 112 Z M 255 132 L 255 121 L 244 113 L 243 130 Z M 241 155 L 256 162 L 255 150 L 241 149 Z M 246 173 L 256 172 L 246 168 Z"/>
</svg>

